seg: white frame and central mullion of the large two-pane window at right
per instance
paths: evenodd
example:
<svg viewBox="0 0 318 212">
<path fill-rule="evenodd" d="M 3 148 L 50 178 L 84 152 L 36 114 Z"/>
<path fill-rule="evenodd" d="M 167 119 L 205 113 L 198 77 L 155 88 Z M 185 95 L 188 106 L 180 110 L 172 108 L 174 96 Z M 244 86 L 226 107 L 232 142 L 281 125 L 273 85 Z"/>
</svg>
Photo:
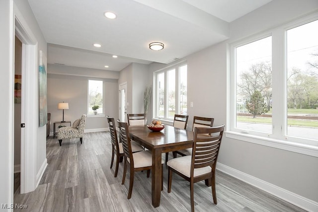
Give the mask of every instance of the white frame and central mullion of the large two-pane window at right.
<svg viewBox="0 0 318 212">
<path fill-rule="evenodd" d="M 230 106 L 228 107 L 228 127 L 225 133 L 227 138 L 318 157 L 318 140 L 287 136 L 287 30 L 315 20 L 318 20 L 318 13 L 230 44 L 230 72 L 228 74 Z M 281 99 L 276 103 L 273 101 L 271 134 L 236 128 L 236 48 L 268 36 L 272 36 L 272 99 Z"/>
</svg>

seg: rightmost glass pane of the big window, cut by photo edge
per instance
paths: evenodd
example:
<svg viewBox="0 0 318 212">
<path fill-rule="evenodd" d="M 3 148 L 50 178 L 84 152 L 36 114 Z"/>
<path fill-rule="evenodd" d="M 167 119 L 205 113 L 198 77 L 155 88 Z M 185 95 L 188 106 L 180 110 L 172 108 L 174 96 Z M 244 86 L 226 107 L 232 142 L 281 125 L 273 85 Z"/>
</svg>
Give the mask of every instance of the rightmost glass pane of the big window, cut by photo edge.
<svg viewBox="0 0 318 212">
<path fill-rule="evenodd" d="M 318 20 L 287 30 L 287 135 L 318 139 Z"/>
</svg>

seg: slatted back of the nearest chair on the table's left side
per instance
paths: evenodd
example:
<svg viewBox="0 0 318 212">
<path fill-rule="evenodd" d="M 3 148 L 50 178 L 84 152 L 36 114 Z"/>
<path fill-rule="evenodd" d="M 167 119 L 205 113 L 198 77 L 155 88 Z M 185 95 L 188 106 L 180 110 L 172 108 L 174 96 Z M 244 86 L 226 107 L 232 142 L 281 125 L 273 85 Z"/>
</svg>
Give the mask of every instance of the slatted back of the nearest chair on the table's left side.
<svg viewBox="0 0 318 212">
<path fill-rule="evenodd" d="M 134 165 L 133 163 L 133 157 L 132 157 L 132 150 L 131 150 L 131 140 L 129 136 L 129 130 L 128 130 L 128 124 L 126 122 L 118 122 L 118 127 L 119 127 L 119 137 L 120 140 L 123 144 L 123 150 L 124 150 L 124 155 L 126 158 L 129 158 L 128 161 L 130 161 L 130 164 Z"/>
</svg>

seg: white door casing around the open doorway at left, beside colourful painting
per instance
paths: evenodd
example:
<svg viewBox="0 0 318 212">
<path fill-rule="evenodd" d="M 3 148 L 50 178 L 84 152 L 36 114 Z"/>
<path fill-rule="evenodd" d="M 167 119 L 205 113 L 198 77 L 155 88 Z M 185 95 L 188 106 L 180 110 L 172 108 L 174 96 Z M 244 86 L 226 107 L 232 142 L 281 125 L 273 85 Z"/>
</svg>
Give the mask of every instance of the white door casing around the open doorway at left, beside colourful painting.
<svg viewBox="0 0 318 212">
<path fill-rule="evenodd" d="M 21 182 L 20 193 L 36 188 L 36 141 L 38 96 L 38 44 L 22 14 L 14 4 L 15 35 L 22 42 L 22 94 L 21 94 Z M 13 35 L 14 39 L 14 35 Z M 13 73 L 14 74 L 14 71 Z M 14 140 L 12 141 L 14 142 Z"/>
</svg>

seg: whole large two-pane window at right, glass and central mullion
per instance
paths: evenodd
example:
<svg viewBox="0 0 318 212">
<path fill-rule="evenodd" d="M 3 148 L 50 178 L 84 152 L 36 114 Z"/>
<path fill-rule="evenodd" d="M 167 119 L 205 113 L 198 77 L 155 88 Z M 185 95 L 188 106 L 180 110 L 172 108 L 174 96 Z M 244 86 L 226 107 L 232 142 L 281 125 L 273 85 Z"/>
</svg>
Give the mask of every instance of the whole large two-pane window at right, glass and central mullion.
<svg viewBox="0 0 318 212">
<path fill-rule="evenodd" d="M 233 135 L 318 146 L 318 20 L 291 26 L 232 45 Z"/>
</svg>

